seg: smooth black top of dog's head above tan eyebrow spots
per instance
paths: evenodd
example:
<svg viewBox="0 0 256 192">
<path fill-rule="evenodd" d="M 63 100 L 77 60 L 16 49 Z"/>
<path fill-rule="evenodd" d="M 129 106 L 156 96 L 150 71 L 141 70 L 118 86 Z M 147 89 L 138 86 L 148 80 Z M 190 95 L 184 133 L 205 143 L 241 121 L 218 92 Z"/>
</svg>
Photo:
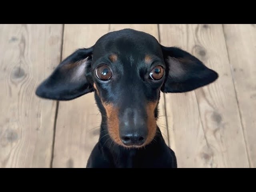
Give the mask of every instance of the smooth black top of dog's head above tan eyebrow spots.
<svg viewBox="0 0 256 192">
<path fill-rule="evenodd" d="M 99 38 L 94 45 L 94 57 L 99 58 L 107 53 L 151 54 L 162 58 L 161 46 L 154 36 L 132 29 L 109 32 Z"/>
</svg>

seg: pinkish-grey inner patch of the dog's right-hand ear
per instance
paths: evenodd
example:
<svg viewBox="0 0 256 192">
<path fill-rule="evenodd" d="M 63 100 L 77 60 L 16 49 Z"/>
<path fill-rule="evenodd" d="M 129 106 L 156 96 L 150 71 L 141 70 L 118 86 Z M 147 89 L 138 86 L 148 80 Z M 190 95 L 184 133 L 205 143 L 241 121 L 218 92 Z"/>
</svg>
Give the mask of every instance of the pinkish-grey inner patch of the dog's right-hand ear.
<svg viewBox="0 0 256 192">
<path fill-rule="evenodd" d="M 180 78 L 186 75 L 185 66 L 179 59 L 168 56 L 166 61 L 169 64 L 169 75 L 172 78 Z"/>
</svg>

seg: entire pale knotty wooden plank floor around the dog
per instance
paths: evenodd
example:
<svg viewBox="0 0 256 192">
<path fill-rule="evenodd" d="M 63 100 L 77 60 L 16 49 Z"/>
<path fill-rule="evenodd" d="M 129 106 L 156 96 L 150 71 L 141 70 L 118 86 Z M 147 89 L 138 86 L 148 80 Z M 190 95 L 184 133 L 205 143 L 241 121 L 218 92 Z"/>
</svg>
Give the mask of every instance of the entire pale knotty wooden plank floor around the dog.
<svg viewBox="0 0 256 192">
<path fill-rule="evenodd" d="M 36 86 L 109 31 L 142 30 L 216 70 L 213 84 L 162 94 L 161 130 L 180 168 L 256 167 L 256 25 L 0 25 L 0 167 L 85 167 L 99 139 L 93 93 L 56 102 Z M 166 110 L 165 110 L 166 109 Z"/>
</svg>

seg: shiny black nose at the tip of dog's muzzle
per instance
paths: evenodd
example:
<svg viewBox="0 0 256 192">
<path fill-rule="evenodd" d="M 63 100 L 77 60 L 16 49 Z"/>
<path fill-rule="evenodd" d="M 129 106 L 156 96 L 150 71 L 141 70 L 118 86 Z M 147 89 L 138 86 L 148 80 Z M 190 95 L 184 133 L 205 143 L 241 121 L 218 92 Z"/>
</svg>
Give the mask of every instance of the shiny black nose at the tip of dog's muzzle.
<svg viewBox="0 0 256 192">
<path fill-rule="evenodd" d="M 124 134 L 121 136 L 121 140 L 123 144 L 127 146 L 130 146 L 130 145 L 140 146 L 144 144 L 144 142 L 146 141 L 146 134 L 139 134 L 139 133 Z"/>
</svg>

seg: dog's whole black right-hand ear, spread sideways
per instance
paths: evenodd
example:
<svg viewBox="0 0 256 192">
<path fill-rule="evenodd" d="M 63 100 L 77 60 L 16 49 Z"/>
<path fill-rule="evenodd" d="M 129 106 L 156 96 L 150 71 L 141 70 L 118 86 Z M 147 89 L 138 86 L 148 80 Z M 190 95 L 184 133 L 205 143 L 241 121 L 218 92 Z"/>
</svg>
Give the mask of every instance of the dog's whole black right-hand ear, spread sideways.
<svg viewBox="0 0 256 192">
<path fill-rule="evenodd" d="M 176 47 L 162 46 L 166 63 L 166 79 L 162 92 L 188 92 L 214 82 L 218 74 L 198 58 Z"/>
</svg>

